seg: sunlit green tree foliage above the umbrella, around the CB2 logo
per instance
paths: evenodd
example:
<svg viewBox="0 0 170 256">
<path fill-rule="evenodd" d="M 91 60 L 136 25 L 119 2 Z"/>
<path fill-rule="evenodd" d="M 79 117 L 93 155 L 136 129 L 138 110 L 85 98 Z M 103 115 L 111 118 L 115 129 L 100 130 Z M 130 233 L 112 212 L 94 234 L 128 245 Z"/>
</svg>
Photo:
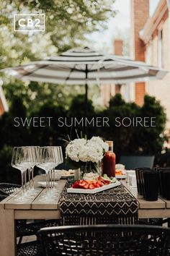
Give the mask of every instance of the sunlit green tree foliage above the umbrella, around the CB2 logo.
<svg viewBox="0 0 170 256">
<path fill-rule="evenodd" d="M 106 27 L 115 15 L 112 0 L 1 0 L 0 68 L 25 63 L 84 45 L 86 33 Z M 45 13 L 45 33 L 16 33 L 13 16 Z"/>
</svg>

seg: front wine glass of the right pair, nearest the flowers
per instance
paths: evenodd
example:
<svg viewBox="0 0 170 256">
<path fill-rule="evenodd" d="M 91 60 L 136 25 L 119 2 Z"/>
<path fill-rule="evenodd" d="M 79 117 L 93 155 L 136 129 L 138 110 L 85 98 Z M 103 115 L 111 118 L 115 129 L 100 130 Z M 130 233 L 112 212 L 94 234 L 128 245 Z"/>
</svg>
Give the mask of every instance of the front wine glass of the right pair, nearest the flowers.
<svg viewBox="0 0 170 256">
<path fill-rule="evenodd" d="M 39 163 L 38 167 L 42 168 L 46 174 L 46 195 L 43 199 L 52 200 L 50 198 L 50 170 L 55 167 L 55 153 L 54 149 L 50 147 L 39 148 Z"/>
</svg>

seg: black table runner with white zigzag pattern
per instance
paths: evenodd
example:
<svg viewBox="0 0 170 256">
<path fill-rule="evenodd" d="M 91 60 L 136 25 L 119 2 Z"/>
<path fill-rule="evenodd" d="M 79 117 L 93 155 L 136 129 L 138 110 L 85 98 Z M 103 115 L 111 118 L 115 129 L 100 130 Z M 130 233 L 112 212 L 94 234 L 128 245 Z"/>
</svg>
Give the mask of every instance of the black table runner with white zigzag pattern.
<svg viewBox="0 0 170 256">
<path fill-rule="evenodd" d="M 138 202 L 123 185 L 93 195 L 68 193 L 68 187 L 70 182 L 59 200 L 63 225 L 138 222 Z"/>
</svg>

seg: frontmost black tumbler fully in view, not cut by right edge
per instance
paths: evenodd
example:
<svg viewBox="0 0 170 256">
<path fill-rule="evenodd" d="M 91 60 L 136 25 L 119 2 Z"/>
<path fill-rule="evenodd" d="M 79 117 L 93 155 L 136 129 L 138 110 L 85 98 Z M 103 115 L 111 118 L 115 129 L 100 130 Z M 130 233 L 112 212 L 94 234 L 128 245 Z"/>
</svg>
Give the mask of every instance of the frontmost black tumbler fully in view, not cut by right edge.
<svg viewBox="0 0 170 256">
<path fill-rule="evenodd" d="M 158 200 L 158 173 L 156 171 L 143 171 L 143 199 L 147 201 Z"/>
</svg>

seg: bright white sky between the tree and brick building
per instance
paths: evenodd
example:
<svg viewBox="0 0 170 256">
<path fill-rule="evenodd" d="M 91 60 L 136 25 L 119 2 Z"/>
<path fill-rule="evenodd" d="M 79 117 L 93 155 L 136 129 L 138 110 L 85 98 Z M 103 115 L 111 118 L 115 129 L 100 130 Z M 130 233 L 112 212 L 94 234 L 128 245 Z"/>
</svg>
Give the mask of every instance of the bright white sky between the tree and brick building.
<svg viewBox="0 0 170 256">
<path fill-rule="evenodd" d="M 150 15 L 153 14 L 159 0 L 150 0 Z M 92 48 L 103 49 L 112 52 L 112 41 L 114 37 L 126 36 L 126 30 L 130 29 L 130 0 L 116 0 L 113 8 L 117 15 L 108 22 L 108 29 L 90 35 L 93 42 Z"/>
</svg>

